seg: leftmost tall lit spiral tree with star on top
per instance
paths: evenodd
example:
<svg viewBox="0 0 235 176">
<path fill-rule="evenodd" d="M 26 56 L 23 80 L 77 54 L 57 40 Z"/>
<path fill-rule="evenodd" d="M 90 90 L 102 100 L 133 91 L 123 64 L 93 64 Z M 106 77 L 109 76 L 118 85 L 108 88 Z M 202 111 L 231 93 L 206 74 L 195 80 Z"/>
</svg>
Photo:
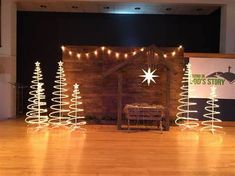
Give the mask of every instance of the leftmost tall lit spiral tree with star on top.
<svg viewBox="0 0 235 176">
<path fill-rule="evenodd" d="M 40 127 L 47 126 L 48 116 L 43 115 L 47 112 L 44 89 L 42 88 L 43 83 L 41 82 L 42 71 L 40 68 L 40 63 L 35 62 L 35 69 L 33 73 L 33 80 L 31 81 L 29 92 L 30 98 L 28 99 L 29 105 L 27 106 L 27 113 L 25 122 L 28 124 L 36 124 Z"/>
</svg>

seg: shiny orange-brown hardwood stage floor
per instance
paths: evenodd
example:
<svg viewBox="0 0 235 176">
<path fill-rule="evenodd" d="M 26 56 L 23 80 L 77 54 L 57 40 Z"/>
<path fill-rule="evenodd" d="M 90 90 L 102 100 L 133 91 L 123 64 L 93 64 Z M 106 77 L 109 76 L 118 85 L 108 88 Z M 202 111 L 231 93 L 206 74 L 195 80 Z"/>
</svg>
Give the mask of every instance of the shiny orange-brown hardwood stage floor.
<svg viewBox="0 0 235 176">
<path fill-rule="evenodd" d="M 0 121 L 0 175 L 162 176 L 235 175 L 235 128 L 226 134 L 28 130 L 23 119 Z"/>
</svg>

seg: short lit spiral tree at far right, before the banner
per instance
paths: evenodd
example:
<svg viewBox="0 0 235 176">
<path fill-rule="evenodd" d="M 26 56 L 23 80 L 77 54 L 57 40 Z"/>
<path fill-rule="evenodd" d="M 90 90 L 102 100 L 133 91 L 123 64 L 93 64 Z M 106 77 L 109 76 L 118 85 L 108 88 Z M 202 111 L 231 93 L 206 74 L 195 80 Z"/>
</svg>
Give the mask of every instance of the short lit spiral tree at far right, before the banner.
<svg viewBox="0 0 235 176">
<path fill-rule="evenodd" d="M 212 86 L 210 97 L 207 101 L 208 106 L 205 107 L 207 113 L 203 115 L 203 117 L 208 118 L 209 120 L 203 121 L 202 125 L 204 125 L 204 127 L 201 128 L 201 131 L 210 131 L 212 134 L 215 134 L 218 129 L 223 128 L 217 125 L 218 122 L 222 121 L 215 117 L 216 115 L 220 114 L 219 111 L 216 111 L 216 109 L 219 108 L 219 105 L 216 104 L 216 102 L 218 102 L 218 99 L 216 97 L 216 87 Z"/>
</svg>

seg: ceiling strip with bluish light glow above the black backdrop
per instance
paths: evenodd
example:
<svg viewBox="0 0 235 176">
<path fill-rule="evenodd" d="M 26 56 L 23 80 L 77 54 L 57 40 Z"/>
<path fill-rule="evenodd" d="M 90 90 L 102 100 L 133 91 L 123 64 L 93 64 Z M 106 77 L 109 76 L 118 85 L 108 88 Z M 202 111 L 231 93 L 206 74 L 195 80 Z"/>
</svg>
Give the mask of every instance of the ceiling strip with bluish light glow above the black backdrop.
<svg viewBox="0 0 235 176">
<path fill-rule="evenodd" d="M 176 14 L 208 15 L 219 5 L 159 4 L 132 2 L 23 2 L 17 3 L 19 11 L 114 13 L 114 14 Z"/>
</svg>

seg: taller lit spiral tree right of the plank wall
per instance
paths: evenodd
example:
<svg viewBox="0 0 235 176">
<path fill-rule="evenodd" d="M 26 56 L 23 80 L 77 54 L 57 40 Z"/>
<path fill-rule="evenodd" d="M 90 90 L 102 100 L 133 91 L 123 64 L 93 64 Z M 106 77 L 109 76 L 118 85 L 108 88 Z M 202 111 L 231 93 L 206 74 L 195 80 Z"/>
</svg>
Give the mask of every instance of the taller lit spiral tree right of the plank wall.
<svg viewBox="0 0 235 176">
<path fill-rule="evenodd" d="M 182 80 L 182 86 L 180 93 L 181 98 L 178 100 L 180 105 L 177 107 L 179 112 L 176 114 L 177 118 L 175 123 L 184 129 L 194 129 L 199 126 L 198 119 L 191 117 L 191 113 L 196 113 L 196 110 L 192 110 L 191 107 L 196 105 L 194 102 L 190 102 L 189 93 L 193 90 L 190 88 L 189 84 L 191 82 L 192 72 L 191 64 L 187 64 L 186 70 L 184 70 L 184 76 Z"/>
</svg>

